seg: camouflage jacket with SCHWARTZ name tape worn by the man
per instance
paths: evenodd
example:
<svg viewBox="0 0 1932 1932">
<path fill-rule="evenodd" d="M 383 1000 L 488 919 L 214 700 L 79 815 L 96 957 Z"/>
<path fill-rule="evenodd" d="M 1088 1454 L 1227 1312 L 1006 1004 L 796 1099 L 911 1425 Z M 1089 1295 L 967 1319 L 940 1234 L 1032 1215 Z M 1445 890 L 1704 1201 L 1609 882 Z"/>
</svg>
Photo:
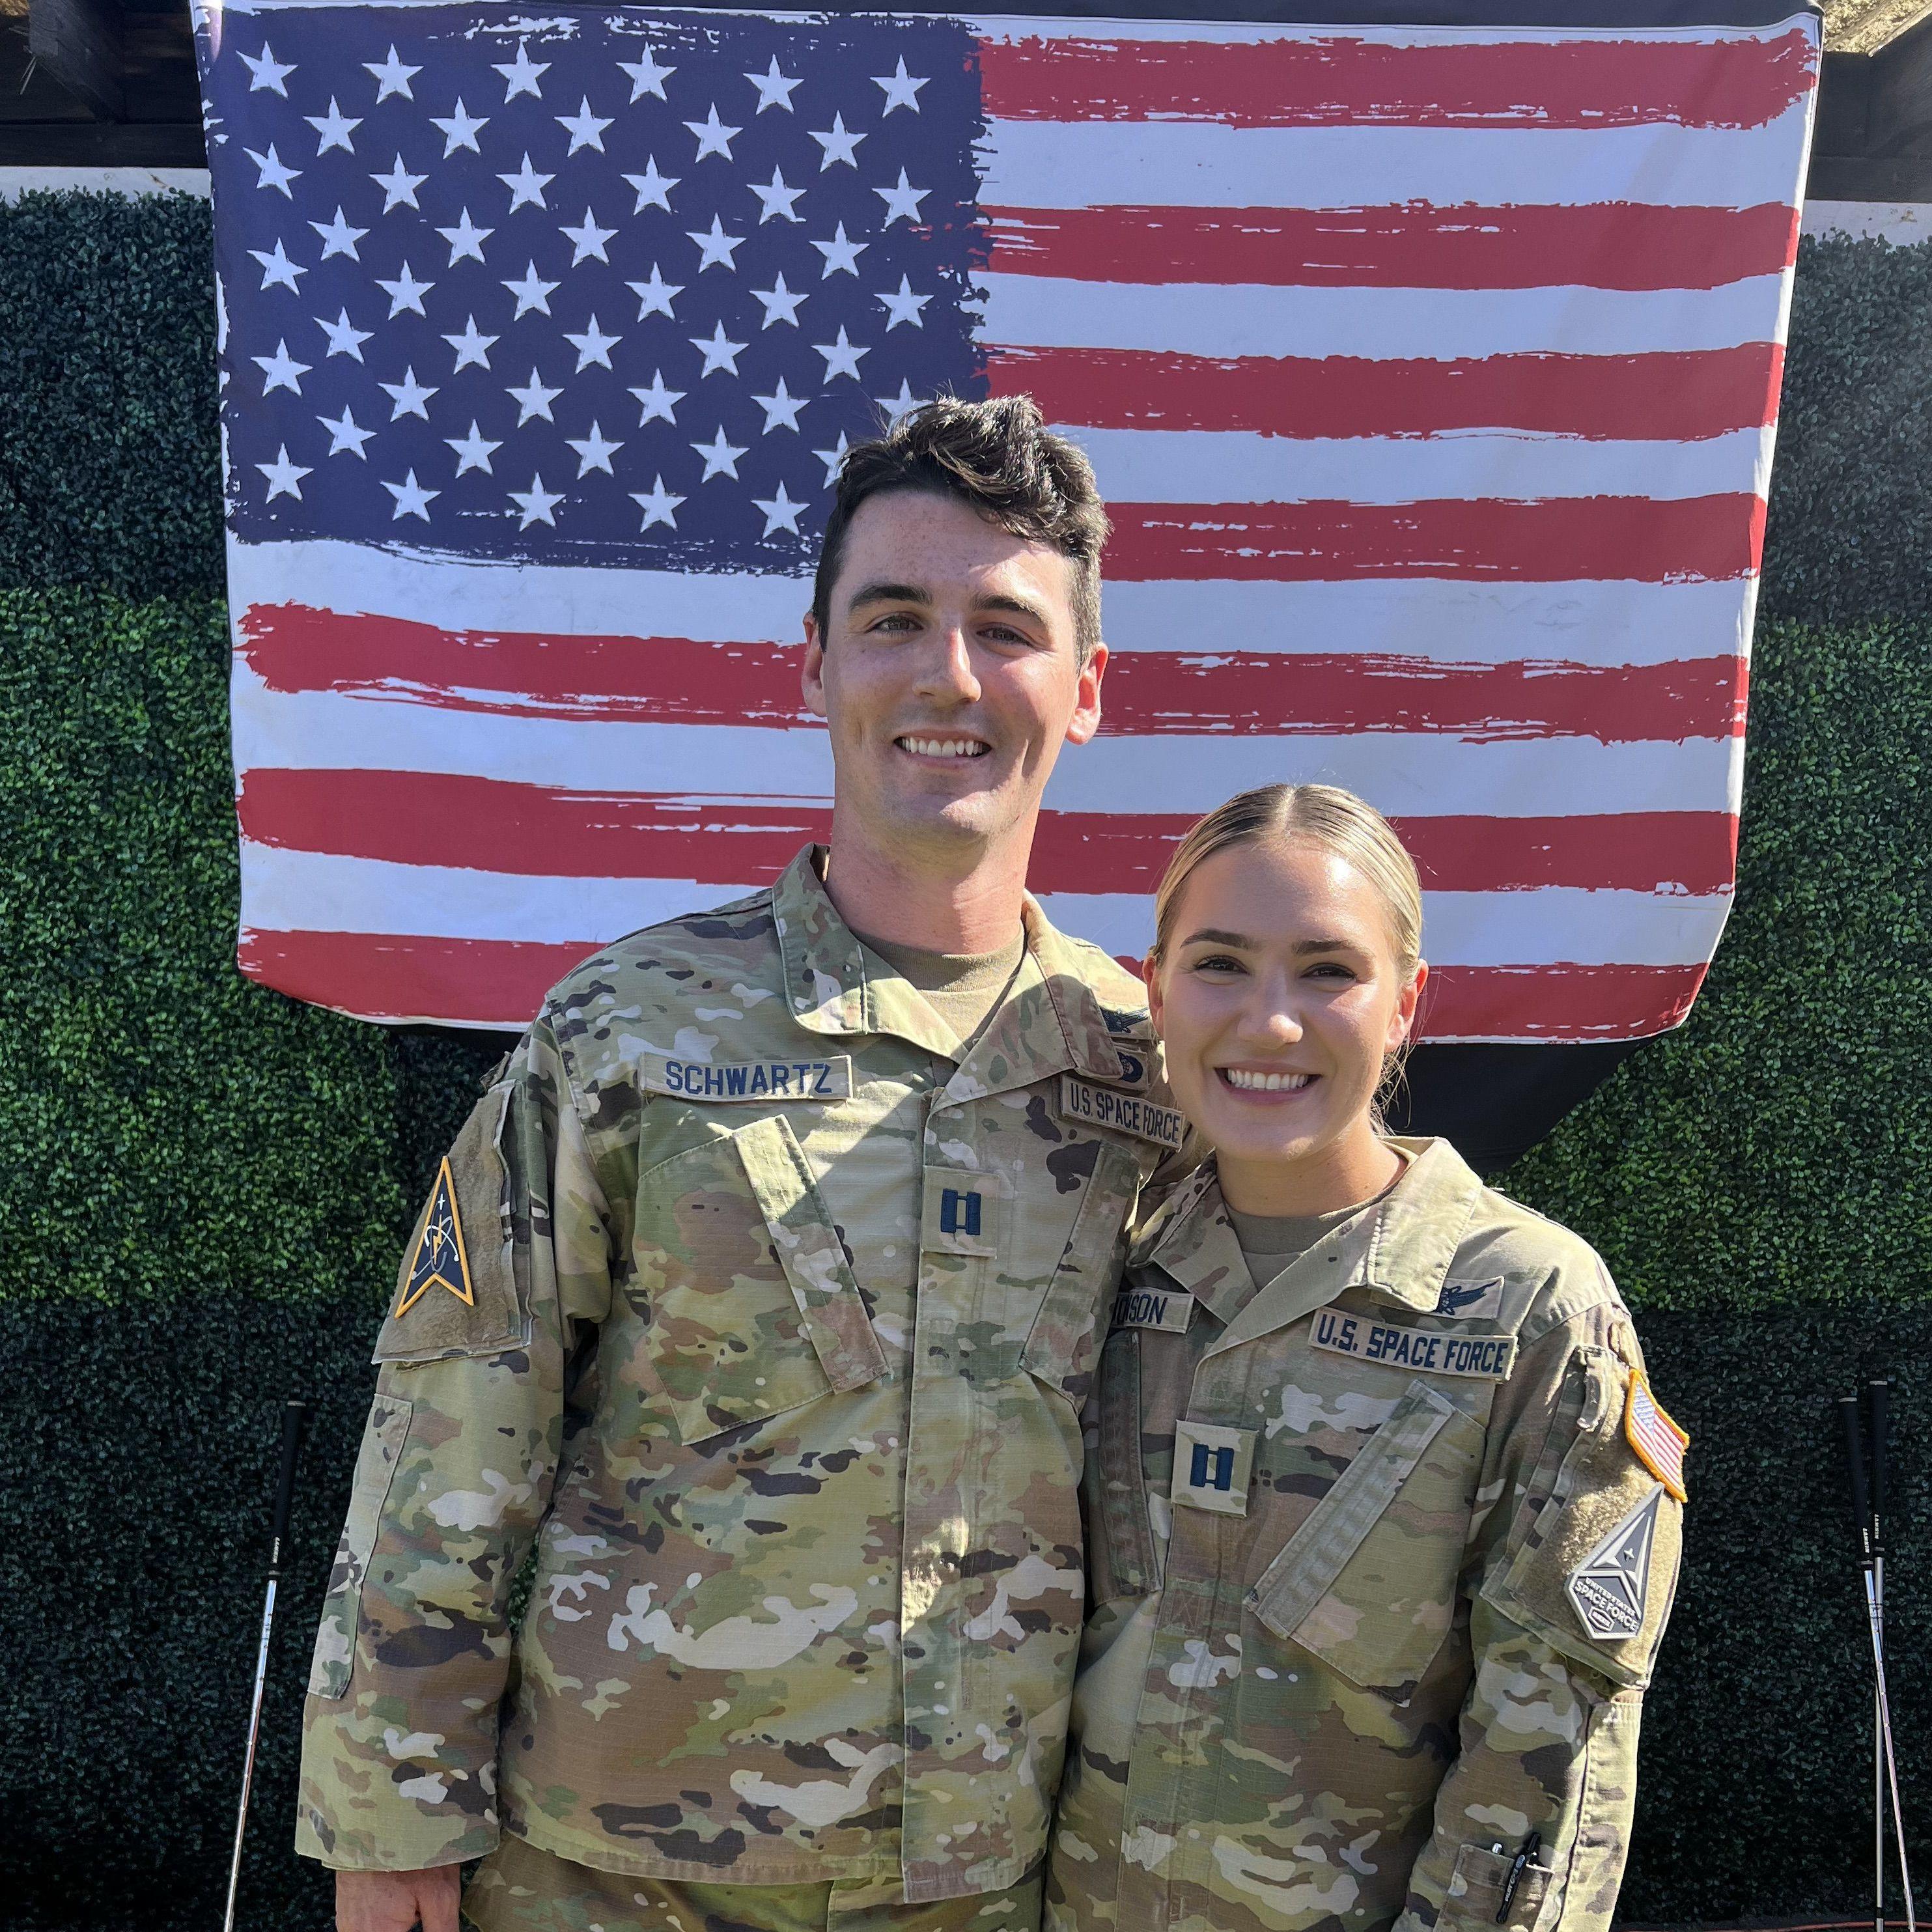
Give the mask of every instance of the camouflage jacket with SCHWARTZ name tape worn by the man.
<svg viewBox="0 0 1932 1932">
<path fill-rule="evenodd" d="M 1039 1861 L 1080 1408 L 1179 1117 L 1138 983 L 1024 918 L 964 1059 L 810 852 L 551 995 L 381 1331 L 298 1849 L 417 1868 L 508 1828 L 914 1899 Z"/>
</svg>

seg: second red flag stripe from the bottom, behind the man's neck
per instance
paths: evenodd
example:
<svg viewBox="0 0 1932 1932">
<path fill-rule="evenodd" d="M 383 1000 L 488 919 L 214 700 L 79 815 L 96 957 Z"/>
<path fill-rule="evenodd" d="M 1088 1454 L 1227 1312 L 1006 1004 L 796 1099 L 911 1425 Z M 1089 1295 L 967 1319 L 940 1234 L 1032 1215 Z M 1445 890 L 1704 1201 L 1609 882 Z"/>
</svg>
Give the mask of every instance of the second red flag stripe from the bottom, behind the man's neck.
<svg viewBox="0 0 1932 1932">
<path fill-rule="evenodd" d="M 831 833 L 831 806 L 813 802 L 574 792 L 437 771 L 255 767 L 238 810 L 243 837 L 298 852 L 699 885 L 769 883 L 802 844 Z M 1036 893 L 1151 895 L 1192 823 L 1190 813 L 1043 811 L 1030 883 Z M 1422 883 L 1449 893 L 1719 893 L 1737 858 L 1737 819 L 1725 811 L 1412 817 L 1395 829 Z"/>
</svg>

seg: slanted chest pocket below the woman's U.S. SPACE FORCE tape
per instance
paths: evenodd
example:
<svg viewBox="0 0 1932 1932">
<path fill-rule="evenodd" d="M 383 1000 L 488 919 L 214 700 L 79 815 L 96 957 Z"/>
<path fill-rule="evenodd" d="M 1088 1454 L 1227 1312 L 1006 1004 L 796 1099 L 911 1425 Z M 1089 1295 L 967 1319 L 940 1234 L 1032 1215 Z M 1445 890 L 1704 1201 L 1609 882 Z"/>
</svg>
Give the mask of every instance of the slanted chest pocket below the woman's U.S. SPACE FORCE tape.
<svg viewBox="0 0 1932 1932">
<path fill-rule="evenodd" d="M 1405 1702 L 1455 1617 L 1482 1424 L 1424 1381 L 1248 1592 L 1277 1636 Z"/>
</svg>

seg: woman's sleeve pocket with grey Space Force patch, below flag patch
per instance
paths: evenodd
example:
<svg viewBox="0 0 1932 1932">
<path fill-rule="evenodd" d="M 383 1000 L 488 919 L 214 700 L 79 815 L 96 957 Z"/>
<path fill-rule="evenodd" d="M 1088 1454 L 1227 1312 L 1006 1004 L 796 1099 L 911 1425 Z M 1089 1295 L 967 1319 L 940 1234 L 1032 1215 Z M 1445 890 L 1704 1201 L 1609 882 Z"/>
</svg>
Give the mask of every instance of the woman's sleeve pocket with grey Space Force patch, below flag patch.
<svg viewBox="0 0 1932 1932">
<path fill-rule="evenodd" d="M 1592 1385 L 1577 1439 L 1482 1596 L 1563 1656 L 1640 1690 L 1677 1594 L 1683 1503 L 1625 1439 L 1629 1370 L 1604 1350 L 1582 1362 Z"/>
</svg>

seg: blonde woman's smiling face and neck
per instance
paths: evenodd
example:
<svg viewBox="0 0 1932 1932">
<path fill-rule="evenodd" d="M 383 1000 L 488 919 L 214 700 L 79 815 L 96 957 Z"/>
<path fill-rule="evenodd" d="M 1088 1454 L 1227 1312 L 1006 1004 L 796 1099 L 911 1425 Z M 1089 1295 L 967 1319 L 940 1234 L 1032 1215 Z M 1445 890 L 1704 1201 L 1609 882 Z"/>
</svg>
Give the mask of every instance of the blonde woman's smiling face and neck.
<svg viewBox="0 0 1932 1932">
<path fill-rule="evenodd" d="M 1312 838 L 1273 833 L 1194 867 L 1148 991 L 1175 1097 L 1235 1206 L 1316 1213 L 1387 1182 L 1370 1105 L 1426 978 L 1397 958 L 1376 887 Z"/>
</svg>

